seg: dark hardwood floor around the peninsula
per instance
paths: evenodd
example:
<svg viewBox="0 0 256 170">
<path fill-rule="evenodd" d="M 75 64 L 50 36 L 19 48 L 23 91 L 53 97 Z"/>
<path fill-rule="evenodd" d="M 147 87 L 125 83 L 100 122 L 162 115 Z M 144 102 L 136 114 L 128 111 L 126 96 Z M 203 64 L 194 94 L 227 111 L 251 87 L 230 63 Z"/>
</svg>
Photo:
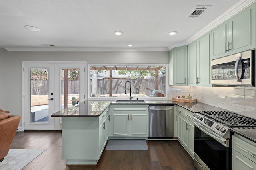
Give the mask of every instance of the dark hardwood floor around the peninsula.
<svg viewBox="0 0 256 170">
<path fill-rule="evenodd" d="M 66 165 L 60 131 L 17 132 L 11 149 L 46 149 L 22 170 L 195 170 L 178 141 L 147 143 L 148 150 L 104 150 L 97 165 Z"/>
</svg>

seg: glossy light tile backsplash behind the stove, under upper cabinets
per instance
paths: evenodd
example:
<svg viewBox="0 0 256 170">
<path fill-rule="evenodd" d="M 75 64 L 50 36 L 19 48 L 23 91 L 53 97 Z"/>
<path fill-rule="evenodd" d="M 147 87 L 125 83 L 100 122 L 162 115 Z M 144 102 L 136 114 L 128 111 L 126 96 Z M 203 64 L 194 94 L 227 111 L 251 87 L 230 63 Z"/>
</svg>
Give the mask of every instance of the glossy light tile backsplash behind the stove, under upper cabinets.
<svg viewBox="0 0 256 170">
<path fill-rule="evenodd" d="M 177 94 L 179 91 L 181 94 Z M 168 94 L 169 99 L 190 94 L 192 98 L 197 98 L 198 102 L 256 118 L 255 87 L 169 86 Z M 228 102 L 225 101 L 225 96 Z"/>
</svg>

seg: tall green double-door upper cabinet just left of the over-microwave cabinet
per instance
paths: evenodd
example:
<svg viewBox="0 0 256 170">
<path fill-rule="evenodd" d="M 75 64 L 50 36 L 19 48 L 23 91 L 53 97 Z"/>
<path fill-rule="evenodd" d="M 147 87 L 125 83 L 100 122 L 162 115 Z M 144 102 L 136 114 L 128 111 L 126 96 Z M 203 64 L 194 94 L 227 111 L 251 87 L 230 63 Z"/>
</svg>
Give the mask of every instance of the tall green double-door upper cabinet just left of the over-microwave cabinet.
<svg viewBox="0 0 256 170">
<path fill-rule="evenodd" d="M 210 36 L 206 33 L 188 45 L 189 86 L 210 86 Z"/>
</svg>

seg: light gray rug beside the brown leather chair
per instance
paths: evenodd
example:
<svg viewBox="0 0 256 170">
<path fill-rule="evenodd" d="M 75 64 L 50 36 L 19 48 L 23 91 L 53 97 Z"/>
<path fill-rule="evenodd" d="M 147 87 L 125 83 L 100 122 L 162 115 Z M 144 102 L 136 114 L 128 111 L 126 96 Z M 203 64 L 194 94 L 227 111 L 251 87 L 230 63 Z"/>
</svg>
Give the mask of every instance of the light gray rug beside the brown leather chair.
<svg viewBox="0 0 256 170">
<path fill-rule="evenodd" d="M 45 149 L 10 149 L 0 162 L 0 170 L 21 170 Z"/>
</svg>

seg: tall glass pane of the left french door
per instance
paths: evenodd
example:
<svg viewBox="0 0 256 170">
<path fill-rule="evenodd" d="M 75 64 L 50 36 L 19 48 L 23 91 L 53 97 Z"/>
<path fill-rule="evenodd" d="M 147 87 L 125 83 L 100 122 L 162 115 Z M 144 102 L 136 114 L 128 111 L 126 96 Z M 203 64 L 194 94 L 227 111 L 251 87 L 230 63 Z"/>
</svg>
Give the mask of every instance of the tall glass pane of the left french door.
<svg viewBox="0 0 256 170">
<path fill-rule="evenodd" d="M 49 123 L 48 68 L 30 68 L 30 124 Z"/>
</svg>

